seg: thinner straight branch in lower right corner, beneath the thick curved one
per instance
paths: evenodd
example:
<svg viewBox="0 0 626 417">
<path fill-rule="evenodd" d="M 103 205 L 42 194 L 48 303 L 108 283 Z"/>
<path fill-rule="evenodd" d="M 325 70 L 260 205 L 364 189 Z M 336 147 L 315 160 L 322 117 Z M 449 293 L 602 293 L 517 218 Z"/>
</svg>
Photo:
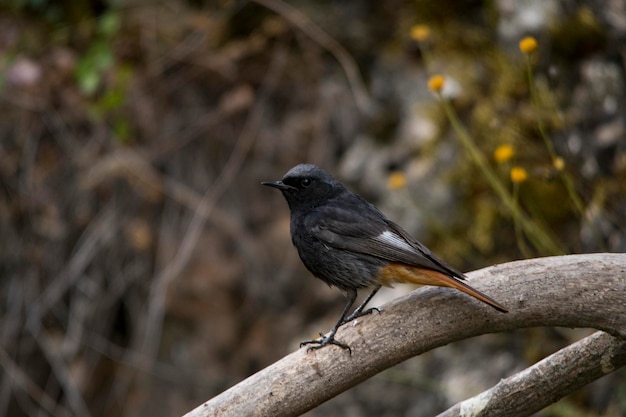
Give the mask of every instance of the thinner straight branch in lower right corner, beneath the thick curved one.
<svg viewBox="0 0 626 417">
<path fill-rule="evenodd" d="M 626 341 L 596 332 L 438 417 L 528 416 L 624 365 Z"/>
</svg>

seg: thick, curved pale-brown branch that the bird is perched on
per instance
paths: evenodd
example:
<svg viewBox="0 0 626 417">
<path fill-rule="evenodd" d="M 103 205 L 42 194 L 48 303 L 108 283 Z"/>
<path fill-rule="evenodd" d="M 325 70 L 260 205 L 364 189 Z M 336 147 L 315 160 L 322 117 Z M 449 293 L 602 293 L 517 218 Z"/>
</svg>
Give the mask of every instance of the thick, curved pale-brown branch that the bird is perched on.
<svg viewBox="0 0 626 417">
<path fill-rule="evenodd" d="M 529 259 L 468 276 L 510 312 L 499 313 L 451 289 L 420 288 L 385 304 L 380 314 L 340 328 L 337 338 L 352 347 L 352 355 L 334 347 L 308 354 L 299 349 L 185 417 L 299 415 L 412 356 L 485 333 L 563 326 L 626 339 L 625 254 Z M 476 415 L 496 415 L 477 407 L 483 414 Z"/>
</svg>

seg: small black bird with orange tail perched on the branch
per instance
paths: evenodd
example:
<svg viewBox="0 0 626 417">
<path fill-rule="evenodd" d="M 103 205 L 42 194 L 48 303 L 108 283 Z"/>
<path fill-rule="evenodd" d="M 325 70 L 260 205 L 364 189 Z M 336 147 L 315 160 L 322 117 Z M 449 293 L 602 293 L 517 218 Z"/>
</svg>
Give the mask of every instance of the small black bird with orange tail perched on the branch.
<svg viewBox="0 0 626 417">
<path fill-rule="evenodd" d="M 346 292 L 346 304 L 339 321 L 327 334 L 300 344 L 319 349 L 333 344 L 350 351 L 335 339 L 337 329 L 376 308 L 363 311 L 382 285 L 413 283 L 452 287 L 489 304 L 503 313 L 507 310 L 489 296 L 465 282 L 457 271 L 400 226 L 390 221 L 374 205 L 348 191 L 323 169 L 310 164 L 297 165 L 282 181 L 263 185 L 278 188 L 291 211 L 291 240 L 309 271 L 328 285 Z M 359 288 L 373 287 L 357 309 L 346 317 Z"/>
</svg>

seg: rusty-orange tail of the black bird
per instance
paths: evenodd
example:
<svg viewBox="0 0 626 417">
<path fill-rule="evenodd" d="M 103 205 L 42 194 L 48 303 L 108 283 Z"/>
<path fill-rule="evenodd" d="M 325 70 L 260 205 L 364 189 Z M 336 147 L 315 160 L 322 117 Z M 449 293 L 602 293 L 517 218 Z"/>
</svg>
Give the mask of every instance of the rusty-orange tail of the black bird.
<svg viewBox="0 0 626 417">
<path fill-rule="evenodd" d="M 461 281 L 460 279 L 450 277 L 442 274 L 441 272 L 433 271 L 430 269 L 418 268 L 401 263 L 390 263 L 383 268 L 378 275 L 379 282 L 382 285 L 391 285 L 394 282 L 418 284 L 418 285 L 433 285 L 436 287 L 450 287 L 455 288 L 467 295 L 470 295 L 477 300 L 482 301 L 485 304 L 489 304 L 502 313 L 508 313 L 508 310 L 504 308 L 493 298 L 486 294 L 474 289 L 470 285 Z"/>
</svg>

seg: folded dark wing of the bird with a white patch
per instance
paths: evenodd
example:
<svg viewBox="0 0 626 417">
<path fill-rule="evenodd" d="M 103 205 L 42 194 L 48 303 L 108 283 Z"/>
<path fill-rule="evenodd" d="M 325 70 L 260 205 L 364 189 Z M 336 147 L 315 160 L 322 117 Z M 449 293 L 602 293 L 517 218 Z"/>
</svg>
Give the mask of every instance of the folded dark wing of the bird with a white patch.
<svg viewBox="0 0 626 417">
<path fill-rule="evenodd" d="M 442 272 L 460 279 L 463 273 L 437 258 L 426 246 L 367 204 L 317 207 L 305 220 L 306 230 L 325 245 Z M 359 210 L 360 209 L 360 210 Z"/>
</svg>

